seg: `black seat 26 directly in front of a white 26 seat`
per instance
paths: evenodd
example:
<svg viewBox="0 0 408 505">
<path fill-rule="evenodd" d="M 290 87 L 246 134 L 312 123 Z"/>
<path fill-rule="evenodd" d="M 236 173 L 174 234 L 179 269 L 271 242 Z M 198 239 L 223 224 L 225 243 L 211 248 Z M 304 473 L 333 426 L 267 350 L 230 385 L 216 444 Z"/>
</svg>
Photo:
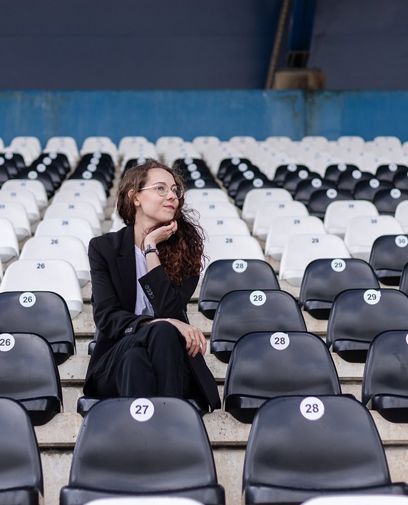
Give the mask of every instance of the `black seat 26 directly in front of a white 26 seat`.
<svg viewBox="0 0 408 505">
<path fill-rule="evenodd" d="M 36 333 L 51 345 L 58 364 L 75 353 L 72 320 L 64 299 L 50 291 L 0 293 L 0 333 Z"/>
</svg>

